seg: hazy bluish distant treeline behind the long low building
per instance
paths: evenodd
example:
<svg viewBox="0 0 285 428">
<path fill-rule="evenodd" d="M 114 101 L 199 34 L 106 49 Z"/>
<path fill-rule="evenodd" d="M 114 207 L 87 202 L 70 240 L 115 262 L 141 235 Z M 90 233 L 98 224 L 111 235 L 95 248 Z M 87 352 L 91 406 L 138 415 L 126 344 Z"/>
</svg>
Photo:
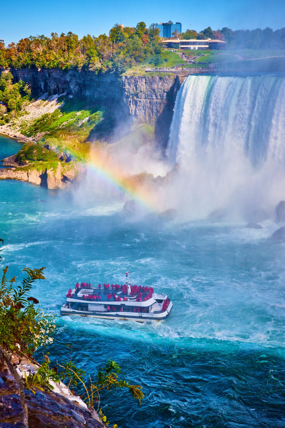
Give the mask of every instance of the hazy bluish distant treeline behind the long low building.
<svg viewBox="0 0 285 428">
<path fill-rule="evenodd" d="M 178 34 L 173 34 L 177 36 Z M 218 39 L 227 42 L 227 48 L 232 49 L 285 49 L 285 27 L 273 31 L 266 27 L 264 30 L 236 30 L 223 27 L 213 31 L 211 27 L 197 33 L 195 30 L 186 30 L 179 35 L 181 39 Z"/>
</svg>

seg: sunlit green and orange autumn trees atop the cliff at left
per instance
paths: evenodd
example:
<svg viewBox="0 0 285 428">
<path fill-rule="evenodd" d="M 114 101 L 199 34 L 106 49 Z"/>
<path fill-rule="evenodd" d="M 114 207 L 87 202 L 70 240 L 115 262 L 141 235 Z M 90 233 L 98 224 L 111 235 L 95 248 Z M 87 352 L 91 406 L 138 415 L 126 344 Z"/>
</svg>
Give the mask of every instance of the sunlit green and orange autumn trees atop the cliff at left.
<svg viewBox="0 0 285 428">
<path fill-rule="evenodd" d="M 140 63 L 158 65 L 162 62 L 162 46 L 155 24 L 144 22 L 136 27 L 116 24 L 109 35 L 79 37 L 71 32 L 50 37 L 30 36 L 7 47 L 0 43 L 0 68 L 77 68 L 81 70 L 120 73 Z"/>
</svg>

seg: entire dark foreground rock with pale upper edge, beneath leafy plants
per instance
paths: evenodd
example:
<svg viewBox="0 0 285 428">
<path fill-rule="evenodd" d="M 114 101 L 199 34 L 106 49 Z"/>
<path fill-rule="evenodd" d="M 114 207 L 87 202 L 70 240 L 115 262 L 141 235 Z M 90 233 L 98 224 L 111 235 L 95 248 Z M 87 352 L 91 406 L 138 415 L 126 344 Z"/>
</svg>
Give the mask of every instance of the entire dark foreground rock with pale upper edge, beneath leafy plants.
<svg viewBox="0 0 285 428">
<path fill-rule="evenodd" d="M 98 414 L 61 382 L 53 391 L 23 389 L 21 377 L 38 365 L 27 358 L 8 360 L 0 348 L 0 427 L 2 428 L 106 428 Z"/>
</svg>

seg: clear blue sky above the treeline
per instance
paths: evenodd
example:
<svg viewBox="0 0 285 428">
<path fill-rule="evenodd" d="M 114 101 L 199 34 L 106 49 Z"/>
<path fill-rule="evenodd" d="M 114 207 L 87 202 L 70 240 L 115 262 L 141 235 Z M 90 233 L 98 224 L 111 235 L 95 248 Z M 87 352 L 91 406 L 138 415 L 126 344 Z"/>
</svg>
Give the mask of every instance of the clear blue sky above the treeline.
<svg viewBox="0 0 285 428">
<path fill-rule="evenodd" d="M 116 24 L 181 22 L 182 31 L 206 27 L 232 30 L 285 27 L 285 0 L 13 0 L 0 6 L 0 39 L 72 31 L 82 37 L 108 33 Z"/>
</svg>

